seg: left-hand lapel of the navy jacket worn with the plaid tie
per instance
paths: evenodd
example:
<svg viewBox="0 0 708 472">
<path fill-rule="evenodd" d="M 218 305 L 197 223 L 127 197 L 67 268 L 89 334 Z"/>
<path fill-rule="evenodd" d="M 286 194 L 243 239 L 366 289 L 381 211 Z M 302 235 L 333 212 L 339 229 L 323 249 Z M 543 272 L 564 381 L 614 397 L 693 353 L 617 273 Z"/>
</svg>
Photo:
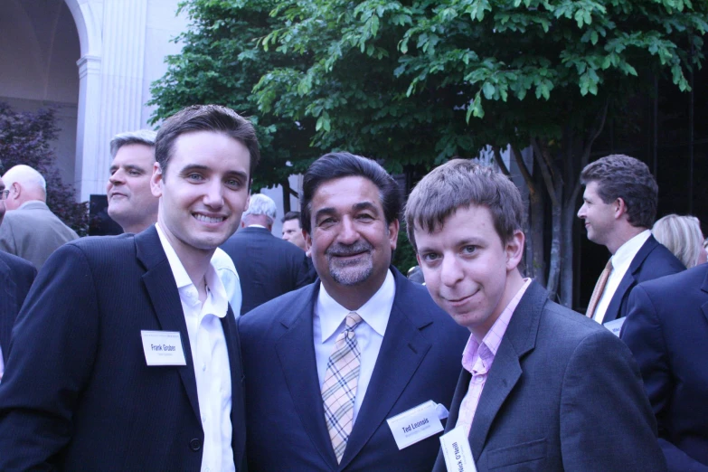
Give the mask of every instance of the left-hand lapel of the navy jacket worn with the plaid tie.
<svg viewBox="0 0 708 472">
<path fill-rule="evenodd" d="M 311 285 L 306 292 L 309 297 L 302 297 L 307 301 L 292 307 L 292 315 L 281 321 L 287 331 L 278 340 L 276 352 L 288 383 L 288 391 L 307 436 L 326 464 L 334 470 L 337 468 L 337 462 L 325 422 L 312 334 L 312 316 L 318 291 L 317 284 Z"/>
</svg>

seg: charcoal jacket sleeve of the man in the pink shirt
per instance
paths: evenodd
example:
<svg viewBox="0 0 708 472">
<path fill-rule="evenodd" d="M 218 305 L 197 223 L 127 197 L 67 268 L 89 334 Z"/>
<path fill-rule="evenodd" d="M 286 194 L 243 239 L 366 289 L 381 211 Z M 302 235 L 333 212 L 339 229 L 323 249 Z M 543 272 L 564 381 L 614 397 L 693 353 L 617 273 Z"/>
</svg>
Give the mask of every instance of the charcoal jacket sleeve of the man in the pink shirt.
<svg viewBox="0 0 708 472">
<path fill-rule="evenodd" d="M 666 470 L 637 363 L 609 331 L 588 335 L 571 354 L 560 418 L 566 470 Z"/>
</svg>

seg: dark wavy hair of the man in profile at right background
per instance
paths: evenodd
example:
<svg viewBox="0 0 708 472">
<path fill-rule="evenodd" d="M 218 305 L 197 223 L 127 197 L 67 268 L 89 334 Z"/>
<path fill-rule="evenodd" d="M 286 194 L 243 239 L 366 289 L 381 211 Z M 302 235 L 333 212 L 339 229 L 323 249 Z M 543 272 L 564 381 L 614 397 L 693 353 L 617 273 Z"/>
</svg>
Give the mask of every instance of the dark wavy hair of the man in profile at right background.
<svg viewBox="0 0 708 472">
<path fill-rule="evenodd" d="M 656 219 L 659 187 L 649 167 L 634 157 L 613 154 L 586 165 L 581 184 L 598 183 L 598 196 L 604 203 L 621 198 L 627 205 L 632 226 L 651 228 Z"/>
</svg>

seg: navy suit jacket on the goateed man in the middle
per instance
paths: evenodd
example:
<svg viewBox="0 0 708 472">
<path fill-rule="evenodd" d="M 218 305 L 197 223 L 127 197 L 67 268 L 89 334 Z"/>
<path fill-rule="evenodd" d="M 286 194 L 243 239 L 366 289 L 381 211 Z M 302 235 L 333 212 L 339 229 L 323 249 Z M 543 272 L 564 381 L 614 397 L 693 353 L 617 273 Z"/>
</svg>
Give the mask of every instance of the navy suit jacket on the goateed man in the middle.
<svg viewBox="0 0 708 472">
<path fill-rule="evenodd" d="M 312 317 L 319 284 L 239 319 L 252 470 L 430 471 L 439 434 L 399 450 L 386 419 L 429 400 L 448 408 L 469 332 L 441 311 L 425 288 L 392 270 L 391 317 L 339 465 L 317 379 Z"/>
</svg>

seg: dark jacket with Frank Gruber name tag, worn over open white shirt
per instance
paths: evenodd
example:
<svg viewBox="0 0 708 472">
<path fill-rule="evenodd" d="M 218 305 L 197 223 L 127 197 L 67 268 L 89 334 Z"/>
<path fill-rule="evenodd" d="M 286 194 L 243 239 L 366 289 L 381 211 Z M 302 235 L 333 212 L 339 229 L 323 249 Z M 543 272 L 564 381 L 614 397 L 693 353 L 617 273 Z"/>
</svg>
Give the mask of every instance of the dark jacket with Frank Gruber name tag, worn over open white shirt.
<svg viewBox="0 0 708 472">
<path fill-rule="evenodd" d="M 233 454 L 245 469 L 235 319 Z M 141 330 L 178 331 L 184 366 L 146 365 Z M 0 383 L 0 470 L 194 470 L 203 429 L 175 278 L 155 227 L 72 241 L 40 271 L 17 317 Z"/>
</svg>

